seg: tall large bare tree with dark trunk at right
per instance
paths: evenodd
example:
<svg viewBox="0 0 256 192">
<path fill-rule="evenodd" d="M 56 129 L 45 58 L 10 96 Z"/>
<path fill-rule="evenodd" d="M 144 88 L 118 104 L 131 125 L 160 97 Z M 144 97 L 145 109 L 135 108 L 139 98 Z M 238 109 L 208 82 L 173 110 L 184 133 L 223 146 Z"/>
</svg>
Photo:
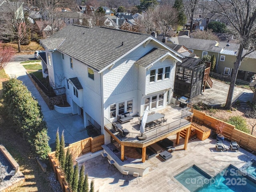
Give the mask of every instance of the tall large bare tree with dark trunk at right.
<svg viewBox="0 0 256 192">
<path fill-rule="evenodd" d="M 225 108 L 231 108 L 236 77 L 242 60 L 256 49 L 256 0 L 215 0 L 212 12 L 226 18 L 229 28 L 237 34 L 240 47 L 232 72 Z"/>
</svg>

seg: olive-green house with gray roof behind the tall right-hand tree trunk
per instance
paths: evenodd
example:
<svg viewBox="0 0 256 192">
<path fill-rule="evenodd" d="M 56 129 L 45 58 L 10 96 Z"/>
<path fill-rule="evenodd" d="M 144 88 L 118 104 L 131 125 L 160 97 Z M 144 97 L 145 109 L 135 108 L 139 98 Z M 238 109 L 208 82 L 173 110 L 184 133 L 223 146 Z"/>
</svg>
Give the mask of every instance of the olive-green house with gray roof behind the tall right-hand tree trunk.
<svg viewBox="0 0 256 192">
<path fill-rule="evenodd" d="M 169 43 L 184 45 L 192 53 L 202 58 L 204 55 L 213 54 L 216 57 L 216 72 L 218 74 L 231 76 L 234 62 L 236 61 L 239 44 L 230 42 L 216 42 L 214 40 L 174 37 L 167 40 Z M 246 52 L 246 50 L 244 50 Z M 239 68 L 238 76 L 248 80 L 248 74 L 256 73 L 256 53 L 253 52 L 246 56 Z"/>
</svg>

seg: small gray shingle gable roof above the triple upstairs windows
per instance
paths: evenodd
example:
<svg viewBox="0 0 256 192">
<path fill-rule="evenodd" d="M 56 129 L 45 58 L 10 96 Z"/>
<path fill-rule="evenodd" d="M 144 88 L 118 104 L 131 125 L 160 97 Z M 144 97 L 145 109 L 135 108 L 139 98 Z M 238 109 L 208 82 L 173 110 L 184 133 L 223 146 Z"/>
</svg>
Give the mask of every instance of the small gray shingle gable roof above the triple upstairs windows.
<svg viewBox="0 0 256 192">
<path fill-rule="evenodd" d="M 168 50 L 153 48 L 143 57 L 138 59 L 134 64 L 139 64 L 143 67 L 146 67 L 166 53 L 168 53 Z"/>
</svg>

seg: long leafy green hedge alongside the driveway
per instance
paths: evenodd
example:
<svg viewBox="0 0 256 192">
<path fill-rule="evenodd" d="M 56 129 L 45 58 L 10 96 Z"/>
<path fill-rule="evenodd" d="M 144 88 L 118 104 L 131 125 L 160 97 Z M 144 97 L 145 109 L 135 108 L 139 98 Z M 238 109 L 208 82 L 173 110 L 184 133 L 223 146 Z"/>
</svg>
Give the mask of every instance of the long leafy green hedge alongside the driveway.
<svg viewBox="0 0 256 192">
<path fill-rule="evenodd" d="M 40 159 L 46 160 L 51 149 L 48 145 L 46 122 L 37 100 L 22 81 L 16 78 L 5 83 L 4 96 L 8 118 L 16 125 L 16 130 L 22 133 L 23 138 L 28 140 Z"/>
</svg>

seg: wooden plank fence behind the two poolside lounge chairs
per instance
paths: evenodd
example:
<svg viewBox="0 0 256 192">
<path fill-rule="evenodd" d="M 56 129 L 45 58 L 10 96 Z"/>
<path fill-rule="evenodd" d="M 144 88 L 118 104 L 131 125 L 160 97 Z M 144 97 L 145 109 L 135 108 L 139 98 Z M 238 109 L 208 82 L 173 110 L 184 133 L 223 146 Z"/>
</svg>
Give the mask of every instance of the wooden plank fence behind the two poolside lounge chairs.
<svg viewBox="0 0 256 192">
<path fill-rule="evenodd" d="M 210 128 L 217 132 L 217 128 L 223 124 L 223 132 L 225 138 L 228 138 L 231 141 L 238 142 L 241 146 L 244 148 L 247 148 L 251 151 L 256 151 L 256 137 L 252 136 L 248 133 L 242 132 L 235 128 L 234 125 L 231 125 L 229 123 L 226 123 L 222 120 L 216 119 L 214 117 L 211 117 L 204 112 L 200 112 L 198 110 L 193 110 L 194 117 L 200 119 L 200 120 L 207 120 L 211 122 Z"/>
</svg>

